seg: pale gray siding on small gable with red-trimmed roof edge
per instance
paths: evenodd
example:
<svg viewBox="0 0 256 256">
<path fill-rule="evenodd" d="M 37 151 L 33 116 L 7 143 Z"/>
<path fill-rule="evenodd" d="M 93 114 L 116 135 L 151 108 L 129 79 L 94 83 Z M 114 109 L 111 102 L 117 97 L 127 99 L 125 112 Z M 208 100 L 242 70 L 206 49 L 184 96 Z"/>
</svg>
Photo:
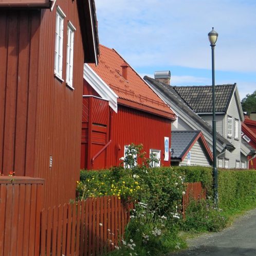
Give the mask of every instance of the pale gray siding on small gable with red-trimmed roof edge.
<svg viewBox="0 0 256 256">
<path fill-rule="evenodd" d="M 202 143 L 196 141 L 193 147 L 190 150 L 191 166 L 210 166 L 210 161 L 205 153 L 205 150 L 202 146 Z M 182 162 L 179 164 L 180 166 L 187 166 L 188 165 L 188 157 L 186 156 Z"/>
</svg>

